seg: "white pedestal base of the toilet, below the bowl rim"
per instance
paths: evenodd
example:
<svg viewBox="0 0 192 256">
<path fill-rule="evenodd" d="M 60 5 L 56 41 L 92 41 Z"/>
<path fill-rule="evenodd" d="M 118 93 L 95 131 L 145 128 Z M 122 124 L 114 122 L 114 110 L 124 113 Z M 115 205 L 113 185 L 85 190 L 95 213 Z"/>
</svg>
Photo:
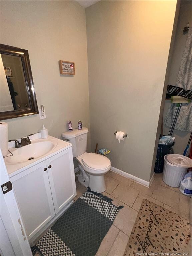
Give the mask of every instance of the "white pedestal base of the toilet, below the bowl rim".
<svg viewBox="0 0 192 256">
<path fill-rule="evenodd" d="M 94 192 L 102 193 L 106 190 L 104 175 L 99 175 L 99 176 L 90 175 L 90 174 L 83 175 L 82 170 L 80 170 L 80 174 L 78 176 L 78 181 L 83 186 L 90 187 L 91 191 L 94 191 Z"/>
</svg>

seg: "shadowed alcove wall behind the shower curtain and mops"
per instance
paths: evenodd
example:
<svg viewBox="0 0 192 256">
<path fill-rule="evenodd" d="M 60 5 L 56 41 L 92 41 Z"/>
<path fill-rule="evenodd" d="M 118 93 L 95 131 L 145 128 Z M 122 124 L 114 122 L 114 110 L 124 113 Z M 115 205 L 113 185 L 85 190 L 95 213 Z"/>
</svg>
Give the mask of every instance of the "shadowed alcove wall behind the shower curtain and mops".
<svg viewBox="0 0 192 256">
<path fill-rule="evenodd" d="M 177 76 L 179 72 L 179 67 L 183 55 L 183 51 L 185 48 L 185 43 L 188 34 L 183 34 L 183 28 L 186 26 L 186 23 L 189 22 L 191 26 L 191 1 L 181 1 L 179 18 L 177 24 L 177 31 L 175 36 L 175 44 L 173 49 L 173 57 L 171 62 L 171 69 L 169 74 L 168 84 L 175 85 L 177 81 Z M 167 110 L 170 105 L 170 100 L 165 101 L 165 108 L 163 114 L 163 120 L 166 116 Z M 163 126 L 163 133 L 168 135 L 170 127 Z M 174 153 L 183 155 L 183 152 L 187 146 L 190 132 L 184 132 L 179 130 L 174 130 L 172 136 L 175 136 L 175 145 L 173 147 Z"/>
</svg>

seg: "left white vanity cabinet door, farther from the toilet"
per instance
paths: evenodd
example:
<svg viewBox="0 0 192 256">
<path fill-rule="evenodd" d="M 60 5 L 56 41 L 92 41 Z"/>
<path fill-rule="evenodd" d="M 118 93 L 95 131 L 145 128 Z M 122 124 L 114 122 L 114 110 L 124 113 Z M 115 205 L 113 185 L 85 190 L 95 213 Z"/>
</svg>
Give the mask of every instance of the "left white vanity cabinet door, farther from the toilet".
<svg viewBox="0 0 192 256">
<path fill-rule="evenodd" d="M 45 161 L 10 178 L 29 239 L 55 216 L 48 173 L 44 168 Z"/>
</svg>

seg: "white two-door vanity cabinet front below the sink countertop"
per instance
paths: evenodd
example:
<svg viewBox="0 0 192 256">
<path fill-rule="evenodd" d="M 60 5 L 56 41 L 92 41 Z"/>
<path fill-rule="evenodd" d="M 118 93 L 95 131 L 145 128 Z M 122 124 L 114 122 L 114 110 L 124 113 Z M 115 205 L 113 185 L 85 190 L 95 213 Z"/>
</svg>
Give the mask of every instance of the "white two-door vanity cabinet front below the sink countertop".
<svg viewBox="0 0 192 256">
<path fill-rule="evenodd" d="M 71 147 L 10 180 L 30 239 L 76 195 Z"/>
</svg>

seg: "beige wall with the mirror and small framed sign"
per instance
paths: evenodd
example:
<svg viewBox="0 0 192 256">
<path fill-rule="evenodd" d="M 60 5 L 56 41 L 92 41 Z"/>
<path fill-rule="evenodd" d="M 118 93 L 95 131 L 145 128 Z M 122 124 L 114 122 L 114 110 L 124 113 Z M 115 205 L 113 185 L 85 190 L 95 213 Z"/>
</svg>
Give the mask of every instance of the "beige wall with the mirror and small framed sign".
<svg viewBox="0 0 192 256">
<path fill-rule="evenodd" d="M 89 128 L 85 9 L 76 1 L 1 1 L 0 43 L 29 51 L 39 115 L 4 120 L 9 139 L 39 132 L 61 138 L 66 122 Z M 75 62 L 76 74 L 60 75 L 59 60 Z M 89 139 L 90 142 L 90 139 Z"/>
</svg>

